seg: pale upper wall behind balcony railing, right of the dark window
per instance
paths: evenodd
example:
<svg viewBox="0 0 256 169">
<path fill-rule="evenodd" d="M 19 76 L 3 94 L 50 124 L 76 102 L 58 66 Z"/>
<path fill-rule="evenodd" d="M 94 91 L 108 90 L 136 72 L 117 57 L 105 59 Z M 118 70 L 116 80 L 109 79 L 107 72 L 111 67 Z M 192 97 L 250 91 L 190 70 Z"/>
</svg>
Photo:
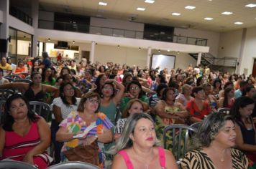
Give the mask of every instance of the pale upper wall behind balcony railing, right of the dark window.
<svg viewBox="0 0 256 169">
<path fill-rule="evenodd" d="M 180 35 L 183 37 L 197 37 L 197 38 L 208 39 L 207 47 L 210 47 L 209 52 L 213 54 L 214 57 L 218 57 L 219 33 L 201 31 L 196 29 L 175 28 L 174 34 L 177 36 Z"/>
</svg>

